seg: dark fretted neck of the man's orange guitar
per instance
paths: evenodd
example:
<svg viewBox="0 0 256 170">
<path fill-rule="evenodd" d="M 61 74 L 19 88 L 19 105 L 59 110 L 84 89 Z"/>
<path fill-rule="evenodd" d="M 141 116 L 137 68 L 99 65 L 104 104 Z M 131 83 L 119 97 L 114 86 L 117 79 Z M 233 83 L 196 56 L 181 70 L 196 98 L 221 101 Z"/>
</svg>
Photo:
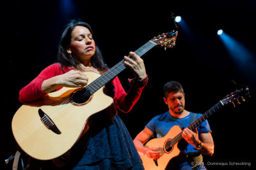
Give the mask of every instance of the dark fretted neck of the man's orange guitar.
<svg viewBox="0 0 256 170">
<path fill-rule="evenodd" d="M 223 106 L 223 103 L 221 101 L 219 101 L 217 104 L 215 104 L 213 107 L 211 107 L 211 109 L 209 109 L 202 116 L 200 116 L 200 118 L 198 118 L 193 123 L 191 123 L 191 125 L 189 125 L 188 128 L 190 130 L 194 130 L 201 123 L 203 123 L 205 120 L 207 120 L 207 118 L 209 118 L 209 116 L 211 116 L 214 112 L 216 112 L 218 109 L 220 109 L 220 107 L 222 107 L 222 106 Z M 174 144 L 178 143 L 181 139 L 182 139 L 182 132 L 180 132 L 178 135 L 176 135 L 172 139 L 169 147 L 174 146 Z"/>
</svg>

